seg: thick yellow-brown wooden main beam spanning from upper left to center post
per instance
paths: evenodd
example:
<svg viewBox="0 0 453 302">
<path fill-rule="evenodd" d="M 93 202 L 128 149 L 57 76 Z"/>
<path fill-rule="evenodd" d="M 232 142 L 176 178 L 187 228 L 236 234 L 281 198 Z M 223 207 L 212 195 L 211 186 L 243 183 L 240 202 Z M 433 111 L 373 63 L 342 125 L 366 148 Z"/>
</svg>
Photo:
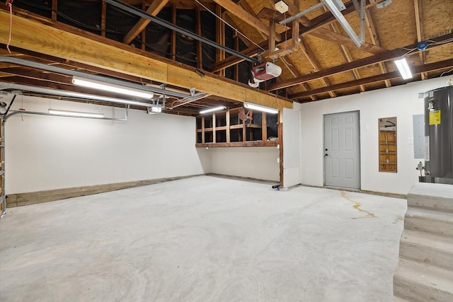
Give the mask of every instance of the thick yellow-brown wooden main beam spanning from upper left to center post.
<svg viewBox="0 0 453 302">
<path fill-rule="evenodd" d="M 0 23 L 8 23 L 9 18 L 7 11 L 0 10 Z M 144 81 L 159 81 L 185 89 L 194 87 L 197 91 L 239 102 L 252 102 L 279 109 L 292 108 L 292 102 L 285 98 L 275 98 L 265 91 L 257 91 L 215 74 L 205 73 L 205 76 L 200 76 L 193 67 L 183 68 L 180 64 L 154 58 L 142 50 L 127 47 L 120 42 L 107 41 L 91 33 L 76 35 L 16 15 L 12 18 L 14 24 L 14 34 L 10 43 L 12 47 L 138 76 Z M 1 26 L 0 43 L 7 42 L 8 28 Z"/>
</svg>

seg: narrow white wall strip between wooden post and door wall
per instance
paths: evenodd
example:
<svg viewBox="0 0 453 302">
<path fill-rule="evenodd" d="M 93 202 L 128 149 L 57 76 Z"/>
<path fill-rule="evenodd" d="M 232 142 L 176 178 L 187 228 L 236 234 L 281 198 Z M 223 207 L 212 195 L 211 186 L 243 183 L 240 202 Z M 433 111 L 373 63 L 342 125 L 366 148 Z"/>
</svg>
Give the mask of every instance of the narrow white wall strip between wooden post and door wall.
<svg viewBox="0 0 453 302">
<path fill-rule="evenodd" d="M 283 185 L 300 183 L 300 104 L 283 108 Z"/>
</svg>

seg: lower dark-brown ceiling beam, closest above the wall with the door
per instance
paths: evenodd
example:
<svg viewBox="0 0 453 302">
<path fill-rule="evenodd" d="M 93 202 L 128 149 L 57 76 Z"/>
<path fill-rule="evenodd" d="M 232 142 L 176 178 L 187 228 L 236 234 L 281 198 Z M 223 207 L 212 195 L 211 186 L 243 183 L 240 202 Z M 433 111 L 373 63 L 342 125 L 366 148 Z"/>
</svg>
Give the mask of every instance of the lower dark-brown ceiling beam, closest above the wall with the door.
<svg viewBox="0 0 453 302">
<path fill-rule="evenodd" d="M 431 63 L 431 64 L 425 64 L 425 65 L 413 67 L 413 74 L 421 74 L 423 72 L 428 72 L 428 71 L 448 69 L 450 67 L 453 67 L 453 59 L 447 59 L 447 60 L 440 61 L 440 62 L 435 62 L 435 63 Z M 364 85 L 364 84 L 385 81 L 386 79 L 387 80 L 388 79 L 398 79 L 400 76 L 401 76 L 401 74 L 399 73 L 399 71 L 392 71 L 387 74 L 378 74 L 377 76 L 369 76 L 367 78 L 362 78 L 362 79 L 355 80 L 355 81 L 338 83 L 336 85 L 332 85 L 329 87 L 317 88 L 312 91 L 303 91 L 300 93 L 294 93 L 292 95 L 288 95 L 288 97 L 291 99 L 304 98 L 304 97 L 310 96 L 312 94 L 316 95 L 319 93 L 326 93 L 331 90 L 337 91 L 337 90 L 344 89 L 344 88 L 351 88 L 351 87 L 360 86 L 360 85 Z"/>
</svg>

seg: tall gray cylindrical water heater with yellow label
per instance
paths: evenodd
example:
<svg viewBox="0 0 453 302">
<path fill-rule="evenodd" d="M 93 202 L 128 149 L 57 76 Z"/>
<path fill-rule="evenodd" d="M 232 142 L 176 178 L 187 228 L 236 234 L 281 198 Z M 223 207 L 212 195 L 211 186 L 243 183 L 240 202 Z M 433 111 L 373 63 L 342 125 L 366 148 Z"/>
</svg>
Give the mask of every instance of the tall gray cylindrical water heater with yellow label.
<svg viewBox="0 0 453 302">
<path fill-rule="evenodd" d="M 425 177 L 453 185 L 453 86 L 425 93 Z"/>
</svg>

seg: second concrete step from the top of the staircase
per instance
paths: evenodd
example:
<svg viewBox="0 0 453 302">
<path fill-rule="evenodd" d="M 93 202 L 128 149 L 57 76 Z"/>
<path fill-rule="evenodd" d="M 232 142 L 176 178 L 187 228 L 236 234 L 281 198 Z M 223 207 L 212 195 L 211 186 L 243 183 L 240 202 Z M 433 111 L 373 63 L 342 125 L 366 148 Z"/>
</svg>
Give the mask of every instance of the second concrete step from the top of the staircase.
<svg viewBox="0 0 453 302">
<path fill-rule="evenodd" d="M 404 228 L 453 237 L 453 213 L 408 207 Z"/>
</svg>

